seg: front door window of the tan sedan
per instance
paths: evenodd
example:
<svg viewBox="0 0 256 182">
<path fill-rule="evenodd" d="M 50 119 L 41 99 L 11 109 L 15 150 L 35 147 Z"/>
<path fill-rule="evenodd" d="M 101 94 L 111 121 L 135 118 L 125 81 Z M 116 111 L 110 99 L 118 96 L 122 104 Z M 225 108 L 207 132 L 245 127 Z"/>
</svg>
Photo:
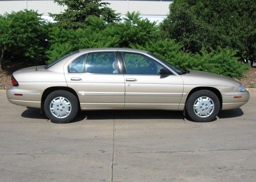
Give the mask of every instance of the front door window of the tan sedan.
<svg viewBox="0 0 256 182">
<path fill-rule="evenodd" d="M 123 52 L 127 74 L 159 75 L 163 65 L 154 59 L 138 53 Z"/>
</svg>

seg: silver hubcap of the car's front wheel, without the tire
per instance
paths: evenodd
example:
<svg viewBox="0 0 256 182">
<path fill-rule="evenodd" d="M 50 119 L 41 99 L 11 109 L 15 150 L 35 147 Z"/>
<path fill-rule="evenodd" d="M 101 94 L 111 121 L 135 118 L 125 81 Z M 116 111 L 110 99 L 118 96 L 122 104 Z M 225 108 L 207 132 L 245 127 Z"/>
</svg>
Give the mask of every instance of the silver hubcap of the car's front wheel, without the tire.
<svg viewBox="0 0 256 182">
<path fill-rule="evenodd" d="M 211 98 L 199 97 L 194 103 L 194 112 L 200 118 L 207 118 L 214 112 L 214 101 Z"/>
</svg>

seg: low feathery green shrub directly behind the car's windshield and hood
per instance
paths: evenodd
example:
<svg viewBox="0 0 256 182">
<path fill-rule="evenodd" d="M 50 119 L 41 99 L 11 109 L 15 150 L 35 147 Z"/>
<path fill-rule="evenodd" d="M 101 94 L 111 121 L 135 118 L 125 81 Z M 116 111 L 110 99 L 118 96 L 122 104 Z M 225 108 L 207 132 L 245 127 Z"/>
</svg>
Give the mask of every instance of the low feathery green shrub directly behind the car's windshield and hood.
<svg viewBox="0 0 256 182">
<path fill-rule="evenodd" d="M 228 77 L 241 78 L 248 70 L 248 65 L 242 63 L 236 57 L 237 51 L 229 48 L 207 51 L 202 49 L 199 53 L 185 53 L 181 50 L 182 45 L 174 40 L 165 39 L 157 42 L 147 42 L 145 47 L 138 44 L 133 48 L 150 51 L 167 62 L 183 68 L 204 71 L 224 75 Z"/>
</svg>

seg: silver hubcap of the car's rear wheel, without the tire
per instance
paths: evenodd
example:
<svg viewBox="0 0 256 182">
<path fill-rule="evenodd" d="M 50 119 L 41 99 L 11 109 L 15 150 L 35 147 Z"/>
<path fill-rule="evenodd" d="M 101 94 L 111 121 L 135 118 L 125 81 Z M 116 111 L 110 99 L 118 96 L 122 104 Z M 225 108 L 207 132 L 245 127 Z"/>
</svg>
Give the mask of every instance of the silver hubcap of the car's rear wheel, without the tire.
<svg viewBox="0 0 256 182">
<path fill-rule="evenodd" d="M 50 111 L 56 118 L 66 118 L 71 113 L 71 103 L 65 97 L 56 97 L 50 103 Z"/>
</svg>

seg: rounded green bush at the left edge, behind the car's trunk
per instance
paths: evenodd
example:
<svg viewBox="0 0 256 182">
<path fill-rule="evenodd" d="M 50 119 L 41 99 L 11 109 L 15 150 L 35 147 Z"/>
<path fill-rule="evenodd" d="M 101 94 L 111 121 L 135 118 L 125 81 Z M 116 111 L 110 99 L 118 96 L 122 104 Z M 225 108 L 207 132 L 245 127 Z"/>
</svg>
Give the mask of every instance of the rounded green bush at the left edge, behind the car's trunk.
<svg viewBox="0 0 256 182">
<path fill-rule="evenodd" d="M 37 12 L 28 10 L 0 16 L 0 49 L 4 50 L 5 59 L 45 59 L 48 25 L 40 16 Z"/>
</svg>

